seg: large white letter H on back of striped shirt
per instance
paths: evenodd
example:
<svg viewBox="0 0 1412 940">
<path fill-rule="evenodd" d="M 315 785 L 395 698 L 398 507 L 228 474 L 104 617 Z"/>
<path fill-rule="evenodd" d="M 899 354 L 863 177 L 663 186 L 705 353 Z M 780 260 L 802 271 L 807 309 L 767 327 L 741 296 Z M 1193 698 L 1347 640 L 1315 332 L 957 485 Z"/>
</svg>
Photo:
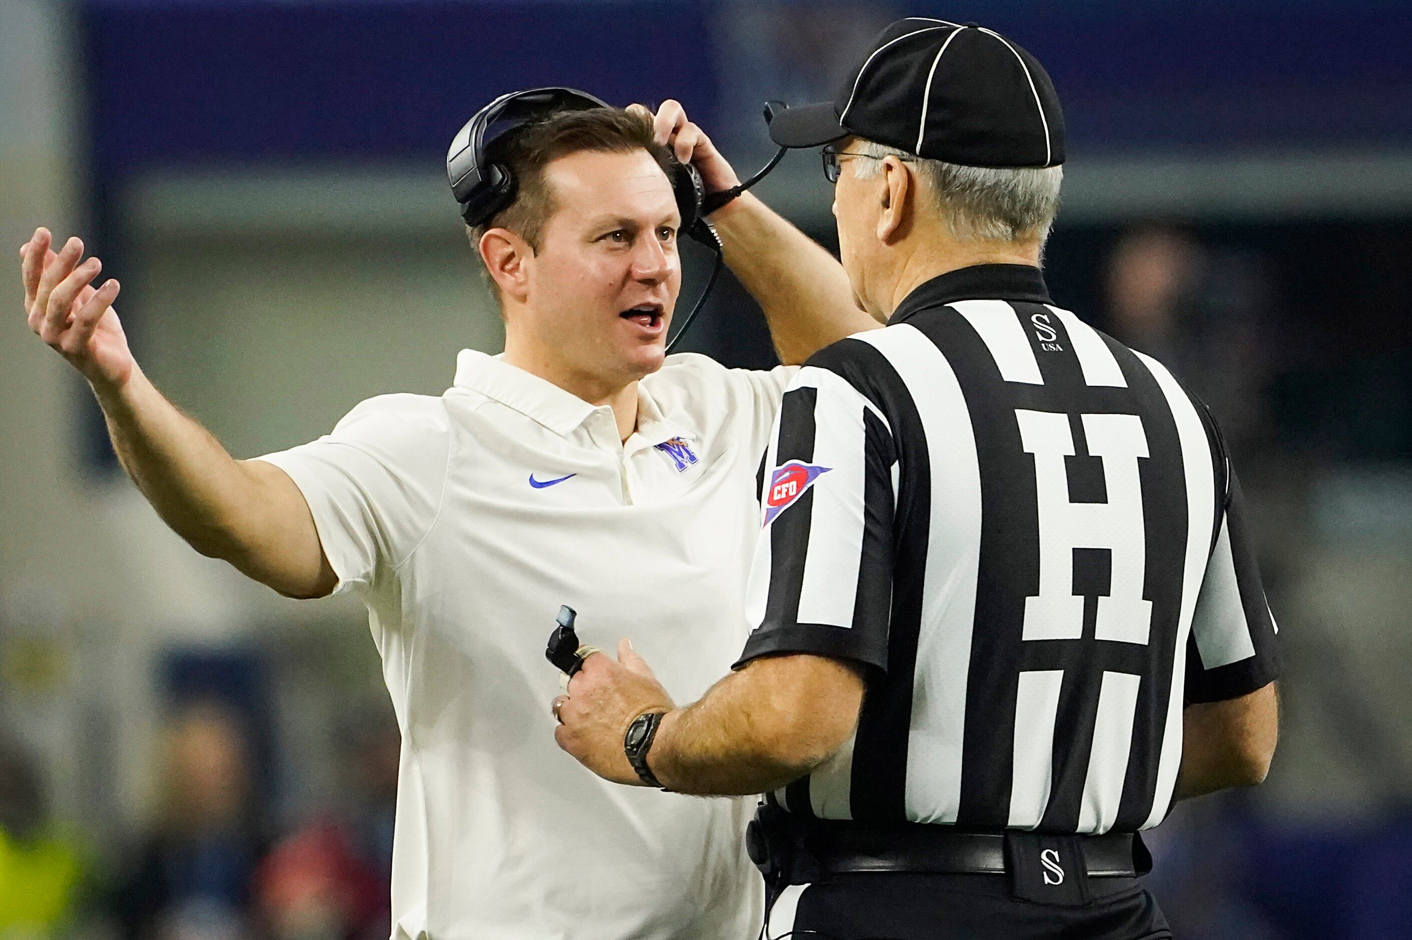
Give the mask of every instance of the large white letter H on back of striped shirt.
<svg viewBox="0 0 1412 940">
<path fill-rule="evenodd" d="M 1035 456 L 1039 497 L 1039 594 L 1025 598 L 1025 639 L 1083 637 L 1083 597 L 1073 593 L 1073 550 L 1108 549 L 1108 594 L 1099 598 L 1097 639 L 1147 644 L 1152 601 L 1142 598 L 1147 534 L 1138 457 L 1148 456 L 1137 415 L 1083 415 L 1089 453 L 1103 459 L 1107 502 L 1070 502 L 1065 457 L 1075 453 L 1069 415 L 1017 409 L 1025 452 Z"/>
</svg>

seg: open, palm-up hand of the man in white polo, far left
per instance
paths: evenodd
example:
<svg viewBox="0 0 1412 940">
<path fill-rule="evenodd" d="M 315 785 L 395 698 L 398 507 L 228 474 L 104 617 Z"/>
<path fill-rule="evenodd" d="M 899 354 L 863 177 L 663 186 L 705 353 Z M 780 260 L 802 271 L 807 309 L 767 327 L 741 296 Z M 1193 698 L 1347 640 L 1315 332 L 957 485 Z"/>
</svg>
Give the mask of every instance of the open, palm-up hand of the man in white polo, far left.
<svg viewBox="0 0 1412 940">
<path fill-rule="evenodd" d="M 95 288 L 103 263 L 88 258 L 80 264 L 79 239 L 69 239 L 58 253 L 51 247 L 52 240 L 49 230 L 41 227 L 20 246 L 30 329 L 95 387 L 120 388 L 131 378 L 134 360 L 113 309 L 119 284 L 109 278 Z"/>
</svg>

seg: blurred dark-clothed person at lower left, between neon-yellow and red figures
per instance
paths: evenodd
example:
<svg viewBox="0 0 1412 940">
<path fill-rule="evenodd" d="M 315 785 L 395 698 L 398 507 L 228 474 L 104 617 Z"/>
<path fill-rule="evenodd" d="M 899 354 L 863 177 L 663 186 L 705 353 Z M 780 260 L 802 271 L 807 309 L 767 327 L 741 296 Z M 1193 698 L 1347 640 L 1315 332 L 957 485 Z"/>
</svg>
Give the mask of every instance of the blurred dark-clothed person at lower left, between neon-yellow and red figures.
<svg viewBox="0 0 1412 940">
<path fill-rule="evenodd" d="M 220 706 L 171 723 L 164 806 L 114 899 L 127 940 L 244 940 L 261 838 L 244 734 Z"/>
</svg>

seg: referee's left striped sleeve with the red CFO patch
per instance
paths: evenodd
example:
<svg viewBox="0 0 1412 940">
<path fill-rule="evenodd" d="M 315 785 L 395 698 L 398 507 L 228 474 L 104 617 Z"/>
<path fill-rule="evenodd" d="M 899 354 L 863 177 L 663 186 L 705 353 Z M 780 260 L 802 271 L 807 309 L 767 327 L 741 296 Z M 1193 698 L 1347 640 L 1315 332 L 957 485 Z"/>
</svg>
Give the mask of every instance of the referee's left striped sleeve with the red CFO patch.
<svg viewBox="0 0 1412 940">
<path fill-rule="evenodd" d="M 761 531 L 736 668 L 815 653 L 887 669 L 897 463 L 881 412 L 805 366 L 784 394 L 761 474 Z"/>
</svg>

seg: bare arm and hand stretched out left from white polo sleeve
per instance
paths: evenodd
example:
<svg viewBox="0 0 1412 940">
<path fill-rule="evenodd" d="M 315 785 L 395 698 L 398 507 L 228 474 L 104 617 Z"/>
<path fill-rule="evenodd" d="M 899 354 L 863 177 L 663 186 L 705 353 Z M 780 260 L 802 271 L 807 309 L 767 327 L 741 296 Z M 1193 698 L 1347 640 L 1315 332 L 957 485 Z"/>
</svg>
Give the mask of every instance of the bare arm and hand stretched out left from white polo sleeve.
<svg viewBox="0 0 1412 940">
<path fill-rule="evenodd" d="M 48 229 L 20 247 L 30 329 L 88 378 L 123 469 L 162 521 L 208 558 L 288 597 L 322 597 L 337 576 L 299 488 L 278 467 L 236 460 L 143 374 L 113 308 L 119 282 Z"/>
</svg>

